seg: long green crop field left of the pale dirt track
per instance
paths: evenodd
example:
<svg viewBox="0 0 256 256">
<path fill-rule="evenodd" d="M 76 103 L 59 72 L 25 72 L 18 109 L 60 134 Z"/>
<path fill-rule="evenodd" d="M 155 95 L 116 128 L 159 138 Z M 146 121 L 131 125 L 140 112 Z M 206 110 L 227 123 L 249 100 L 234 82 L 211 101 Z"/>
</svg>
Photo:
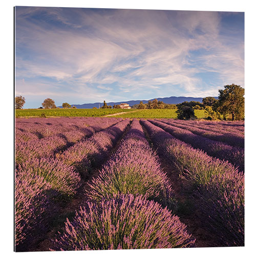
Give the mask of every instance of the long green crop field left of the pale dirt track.
<svg viewBox="0 0 256 256">
<path fill-rule="evenodd" d="M 15 110 L 16 117 L 27 116 L 105 116 L 120 112 L 134 111 L 134 109 L 28 109 Z M 118 116 L 119 117 L 119 116 Z"/>
</svg>

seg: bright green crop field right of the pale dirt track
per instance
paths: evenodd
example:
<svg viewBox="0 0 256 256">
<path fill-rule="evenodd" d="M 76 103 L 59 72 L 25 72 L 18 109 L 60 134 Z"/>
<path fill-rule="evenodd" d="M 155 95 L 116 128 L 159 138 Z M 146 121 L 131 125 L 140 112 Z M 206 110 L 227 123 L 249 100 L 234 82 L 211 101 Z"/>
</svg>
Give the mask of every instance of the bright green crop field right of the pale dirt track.
<svg viewBox="0 0 256 256">
<path fill-rule="evenodd" d="M 195 110 L 197 118 L 205 118 L 204 110 Z M 118 117 L 128 118 L 177 118 L 176 110 L 169 109 L 153 109 L 140 110 L 132 113 L 120 114 Z"/>
</svg>

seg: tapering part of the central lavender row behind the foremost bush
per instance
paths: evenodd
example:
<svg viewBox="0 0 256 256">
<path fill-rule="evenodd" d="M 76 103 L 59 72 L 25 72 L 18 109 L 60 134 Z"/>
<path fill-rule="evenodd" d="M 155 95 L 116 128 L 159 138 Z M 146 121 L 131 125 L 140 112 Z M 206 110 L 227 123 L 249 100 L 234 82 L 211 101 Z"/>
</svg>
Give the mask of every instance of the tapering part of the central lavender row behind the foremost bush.
<svg viewBox="0 0 256 256">
<path fill-rule="evenodd" d="M 117 193 L 139 194 L 170 208 L 175 207 L 172 187 L 136 119 L 116 153 L 89 185 L 91 190 L 88 191 L 88 196 L 93 200 L 101 200 Z"/>
</svg>

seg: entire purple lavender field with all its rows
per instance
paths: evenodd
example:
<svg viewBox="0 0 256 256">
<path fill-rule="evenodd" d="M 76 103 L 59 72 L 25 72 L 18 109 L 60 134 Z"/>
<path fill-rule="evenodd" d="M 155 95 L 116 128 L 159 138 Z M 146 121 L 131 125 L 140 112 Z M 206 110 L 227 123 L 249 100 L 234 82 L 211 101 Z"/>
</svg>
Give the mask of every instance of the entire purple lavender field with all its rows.
<svg viewBox="0 0 256 256">
<path fill-rule="evenodd" d="M 16 251 L 224 246 L 244 246 L 244 121 L 16 118 Z"/>
</svg>

